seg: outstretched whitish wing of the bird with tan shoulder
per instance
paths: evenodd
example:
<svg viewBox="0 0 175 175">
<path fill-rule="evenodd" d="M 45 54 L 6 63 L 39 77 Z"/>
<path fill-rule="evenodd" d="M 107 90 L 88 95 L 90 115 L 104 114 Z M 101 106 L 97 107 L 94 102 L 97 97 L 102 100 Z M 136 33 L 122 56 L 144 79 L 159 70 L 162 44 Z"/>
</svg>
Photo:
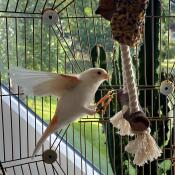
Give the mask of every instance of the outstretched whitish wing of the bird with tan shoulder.
<svg viewBox="0 0 175 175">
<path fill-rule="evenodd" d="M 24 88 L 26 95 L 62 96 L 67 90 L 76 87 L 80 80 L 76 75 L 56 74 L 11 67 L 9 75 L 17 85 Z"/>
</svg>

